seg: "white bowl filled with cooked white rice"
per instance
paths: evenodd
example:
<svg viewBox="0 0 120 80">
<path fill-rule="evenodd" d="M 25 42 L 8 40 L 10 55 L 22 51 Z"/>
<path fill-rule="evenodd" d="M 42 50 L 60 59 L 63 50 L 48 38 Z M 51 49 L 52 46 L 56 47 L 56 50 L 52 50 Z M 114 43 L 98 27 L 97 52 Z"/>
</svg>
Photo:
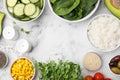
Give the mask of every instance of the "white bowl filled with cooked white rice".
<svg viewBox="0 0 120 80">
<path fill-rule="evenodd" d="M 102 52 L 113 51 L 120 46 L 120 21 L 109 14 L 100 14 L 88 24 L 89 42 Z"/>
</svg>

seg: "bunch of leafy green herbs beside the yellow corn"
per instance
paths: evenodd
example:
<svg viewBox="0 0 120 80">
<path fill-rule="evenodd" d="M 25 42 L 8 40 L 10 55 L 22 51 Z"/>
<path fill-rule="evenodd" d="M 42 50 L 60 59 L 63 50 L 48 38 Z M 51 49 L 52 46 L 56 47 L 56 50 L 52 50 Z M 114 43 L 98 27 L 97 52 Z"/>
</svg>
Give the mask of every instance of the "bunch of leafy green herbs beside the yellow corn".
<svg viewBox="0 0 120 80">
<path fill-rule="evenodd" d="M 73 62 L 35 62 L 35 68 L 40 71 L 40 80 L 84 80 L 80 65 Z"/>
</svg>

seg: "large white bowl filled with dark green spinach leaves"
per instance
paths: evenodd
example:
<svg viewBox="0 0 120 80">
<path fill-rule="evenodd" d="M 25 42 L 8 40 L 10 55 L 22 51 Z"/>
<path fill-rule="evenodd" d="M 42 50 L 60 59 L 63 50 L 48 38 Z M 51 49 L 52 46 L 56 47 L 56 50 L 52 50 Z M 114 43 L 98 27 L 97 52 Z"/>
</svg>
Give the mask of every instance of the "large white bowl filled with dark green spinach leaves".
<svg viewBox="0 0 120 80">
<path fill-rule="evenodd" d="M 54 15 L 67 22 L 80 22 L 92 16 L 100 0 L 48 0 Z"/>
</svg>

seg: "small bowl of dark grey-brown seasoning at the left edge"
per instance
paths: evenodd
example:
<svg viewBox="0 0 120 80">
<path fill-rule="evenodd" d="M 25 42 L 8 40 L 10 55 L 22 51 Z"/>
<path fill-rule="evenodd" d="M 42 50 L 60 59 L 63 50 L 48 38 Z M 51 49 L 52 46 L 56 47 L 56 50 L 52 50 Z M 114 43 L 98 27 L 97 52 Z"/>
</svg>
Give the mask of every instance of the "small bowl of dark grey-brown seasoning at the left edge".
<svg viewBox="0 0 120 80">
<path fill-rule="evenodd" d="M 0 51 L 0 69 L 4 68 L 8 63 L 8 57 Z"/>
</svg>

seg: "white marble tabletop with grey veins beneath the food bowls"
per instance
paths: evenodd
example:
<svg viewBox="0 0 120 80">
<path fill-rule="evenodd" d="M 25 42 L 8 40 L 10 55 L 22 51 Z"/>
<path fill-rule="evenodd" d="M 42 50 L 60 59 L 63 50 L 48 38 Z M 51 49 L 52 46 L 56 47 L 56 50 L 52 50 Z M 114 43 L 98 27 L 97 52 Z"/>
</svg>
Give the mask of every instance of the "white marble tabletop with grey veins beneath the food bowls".
<svg viewBox="0 0 120 80">
<path fill-rule="evenodd" d="M 79 23 L 67 23 L 56 18 L 50 11 L 50 8 L 46 1 L 46 7 L 43 15 L 36 21 L 31 23 L 18 23 L 14 24 L 19 31 L 19 39 L 25 38 L 29 40 L 33 46 L 33 50 L 30 53 L 24 54 L 24 56 L 32 57 L 37 61 L 47 62 L 49 60 L 69 60 L 81 65 L 83 75 L 91 74 L 95 72 L 87 71 L 82 63 L 83 57 L 87 52 L 97 52 L 102 60 L 102 67 L 98 70 L 102 72 L 106 77 L 110 77 L 112 80 L 120 80 L 120 76 L 113 74 L 108 66 L 110 59 L 120 54 L 120 48 L 113 52 L 99 52 L 95 50 L 89 43 L 86 35 L 87 24 L 89 20 L 98 14 L 111 14 L 105 7 L 104 2 L 100 4 L 97 12 L 88 20 Z M 6 13 L 5 7 L 3 7 L 4 0 L 0 0 L 0 11 Z M 10 25 L 13 26 L 13 20 L 6 14 L 3 27 Z M 20 28 L 24 28 L 27 31 L 31 31 L 30 34 L 25 34 L 20 31 Z M 10 77 L 10 66 L 12 62 L 20 56 L 15 50 L 16 41 L 8 41 L 3 37 L 0 39 L 0 50 L 6 52 L 9 57 L 9 63 L 4 70 L 0 70 L 0 80 L 12 80 Z M 39 80 L 36 75 L 34 80 Z"/>
</svg>

